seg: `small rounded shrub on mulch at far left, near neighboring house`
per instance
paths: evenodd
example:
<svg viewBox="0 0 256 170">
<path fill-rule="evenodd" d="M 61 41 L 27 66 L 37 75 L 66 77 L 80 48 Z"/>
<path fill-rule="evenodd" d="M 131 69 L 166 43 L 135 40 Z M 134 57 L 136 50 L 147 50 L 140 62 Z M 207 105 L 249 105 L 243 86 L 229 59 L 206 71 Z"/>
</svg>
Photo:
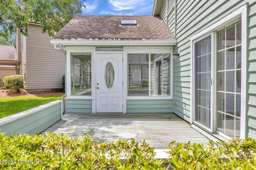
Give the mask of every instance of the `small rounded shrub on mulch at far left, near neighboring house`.
<svg viewBox="0 0 256 170">
<path fill-rule="evenodd" d="M 3 79 L 4 85 L 9 89 L 20 91 L 23 88 L 24 78 L 23 75 L 9 75 Z"/>
</svg>

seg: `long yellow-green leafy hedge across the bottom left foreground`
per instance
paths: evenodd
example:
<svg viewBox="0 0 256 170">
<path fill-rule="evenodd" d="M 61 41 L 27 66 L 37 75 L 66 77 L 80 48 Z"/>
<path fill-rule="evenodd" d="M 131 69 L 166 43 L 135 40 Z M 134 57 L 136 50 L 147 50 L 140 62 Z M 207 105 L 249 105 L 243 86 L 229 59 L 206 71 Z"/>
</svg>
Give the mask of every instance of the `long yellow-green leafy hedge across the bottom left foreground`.
<svg viewBox="0 0 256 170">
<path fill-rule="evenodd" d="M 31 164 L 0 164 L 0 169 L 164 169 L 153 159 L 154 149 L 134 139 L 94 142 L 90 136 L 76 140 L 66 135 L 0 134 L 0 158 L 31 160 Z M 126 157 L 126 162 L 122 158 Z M 39 165 L 41 161 L 41 165 Z M 36 163 L 36 164 L 35 164 Z M 43 164 L 45 163 L 45 164 Z"/>
</svg>

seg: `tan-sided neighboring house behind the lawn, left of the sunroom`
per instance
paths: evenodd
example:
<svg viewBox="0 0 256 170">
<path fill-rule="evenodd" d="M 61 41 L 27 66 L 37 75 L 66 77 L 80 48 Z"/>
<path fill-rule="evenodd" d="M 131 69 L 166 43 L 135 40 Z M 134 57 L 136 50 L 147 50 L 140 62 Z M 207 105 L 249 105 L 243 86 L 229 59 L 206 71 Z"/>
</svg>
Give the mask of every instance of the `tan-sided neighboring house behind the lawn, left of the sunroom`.
<svg viewBox="0 0 256 170">
<path fill-rule="evenodd" d="M 20 73 L 29 92 L 59 91 L 65 74 L 65 57 L 50 43 L 51 37 L 42 33 L 43 25 L 29 22 L 28 36 L 17 31 L 16 48 L 21 61 Z"/>
</svg>

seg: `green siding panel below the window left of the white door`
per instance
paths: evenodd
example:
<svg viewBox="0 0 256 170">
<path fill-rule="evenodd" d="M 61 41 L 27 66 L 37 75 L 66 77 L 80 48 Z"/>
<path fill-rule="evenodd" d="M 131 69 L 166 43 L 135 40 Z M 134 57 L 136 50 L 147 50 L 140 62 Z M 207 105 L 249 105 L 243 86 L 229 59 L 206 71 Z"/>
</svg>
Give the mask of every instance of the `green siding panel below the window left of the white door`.
<svg viewBox="0 0 256 170">
<path fill-rule="evenodd" d="M 92 113 L 92 100 L 66 99 L 66 113 Z"/>
</svg>

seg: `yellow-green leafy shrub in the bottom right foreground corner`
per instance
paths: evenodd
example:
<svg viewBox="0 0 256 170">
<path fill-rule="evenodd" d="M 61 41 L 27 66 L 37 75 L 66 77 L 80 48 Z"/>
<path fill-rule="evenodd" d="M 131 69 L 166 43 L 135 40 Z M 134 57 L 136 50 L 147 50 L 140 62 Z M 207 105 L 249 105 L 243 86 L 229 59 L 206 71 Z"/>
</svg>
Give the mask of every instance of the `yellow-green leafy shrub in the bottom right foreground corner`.
<svg viewBox="0 0 256 170">
<path fill-rule="evenodd" d="M 256 140 L 233 139 L 217 144 L 172 142 L 168 161 L 173 169 L 256 169 Z"/>
</svg>

